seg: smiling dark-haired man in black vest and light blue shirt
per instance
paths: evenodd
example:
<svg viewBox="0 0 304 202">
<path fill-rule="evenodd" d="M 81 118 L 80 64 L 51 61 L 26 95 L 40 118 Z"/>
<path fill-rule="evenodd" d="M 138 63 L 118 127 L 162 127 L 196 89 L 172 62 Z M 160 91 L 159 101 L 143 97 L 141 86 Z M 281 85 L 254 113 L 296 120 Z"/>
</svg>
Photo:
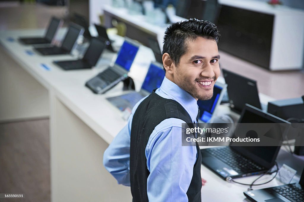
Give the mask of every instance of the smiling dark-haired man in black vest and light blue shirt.
<svg viewBox="0 0 304 202">
<path fill-rule="evenodd" d="M 201 201 L 201 154 L 198 146 L 181 146 L 181 124 L 197 123 L 197 100 L 212 98 L 219 39 L 208 21 L 167 28 L 161 87 L 135 105 L 104 154 L 106 169 L 131 186 L 133 201 Z"/>
</svg>

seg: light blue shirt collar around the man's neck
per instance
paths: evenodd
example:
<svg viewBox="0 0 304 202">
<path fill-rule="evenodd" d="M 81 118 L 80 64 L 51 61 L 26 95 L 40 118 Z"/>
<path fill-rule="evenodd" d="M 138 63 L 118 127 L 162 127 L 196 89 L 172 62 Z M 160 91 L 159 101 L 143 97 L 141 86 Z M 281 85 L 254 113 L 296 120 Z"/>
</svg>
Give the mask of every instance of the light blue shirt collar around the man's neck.
<svg viewBox="0 0 304 202">
<path fill-rule="evenodd" d="M 160 90 L 164 94 L 168 95 L 169 99 L 177 101 L 190 115 L 192 121 L 196 122 L 196 116 L 199 111 L 197 101 L 187 91 L 181 89 L 178 85 L 170 81 L 168 78 L 164 78 L 161 83 Z"/>
</svg>

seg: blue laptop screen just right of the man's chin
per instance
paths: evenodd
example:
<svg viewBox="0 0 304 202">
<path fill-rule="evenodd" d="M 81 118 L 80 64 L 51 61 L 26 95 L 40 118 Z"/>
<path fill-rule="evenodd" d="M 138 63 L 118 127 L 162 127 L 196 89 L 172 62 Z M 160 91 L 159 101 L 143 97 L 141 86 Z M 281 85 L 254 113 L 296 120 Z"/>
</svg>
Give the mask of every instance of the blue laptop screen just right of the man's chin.
<svg viewBox="0 0 304 202">
<path fill-rule="evenodd" d="M 213 97 L 210 100 L 198 100 L 197 105 L 199 106 L 200 110 L 200 119 L 205 122 L 209 123 L 212 114 L 214 112 L 215 106 L 219 100 L 219 95 L 221 94 L 222 88 L 214 85 L 213 88 Z"/>
</svg>

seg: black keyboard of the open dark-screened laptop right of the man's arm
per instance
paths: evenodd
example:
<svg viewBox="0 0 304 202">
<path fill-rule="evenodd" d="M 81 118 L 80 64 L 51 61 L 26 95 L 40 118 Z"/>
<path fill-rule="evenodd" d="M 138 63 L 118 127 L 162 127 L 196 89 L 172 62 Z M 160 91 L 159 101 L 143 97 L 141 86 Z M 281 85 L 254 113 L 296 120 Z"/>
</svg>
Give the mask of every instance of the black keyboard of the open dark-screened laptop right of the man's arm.
<svg viewBox="0 0 304 202">
<path fill-rule="evenodd" d="M 260 167 L 253 161 L 241 156 L 237 152 L 231 150 L 229 147 L 218 147 L 206 150 L 212 156 L 225 162 L 234 171 L 237 172 L 251 172 L 256 170 L 264 170 L 264 167 Z"/>
</svg>

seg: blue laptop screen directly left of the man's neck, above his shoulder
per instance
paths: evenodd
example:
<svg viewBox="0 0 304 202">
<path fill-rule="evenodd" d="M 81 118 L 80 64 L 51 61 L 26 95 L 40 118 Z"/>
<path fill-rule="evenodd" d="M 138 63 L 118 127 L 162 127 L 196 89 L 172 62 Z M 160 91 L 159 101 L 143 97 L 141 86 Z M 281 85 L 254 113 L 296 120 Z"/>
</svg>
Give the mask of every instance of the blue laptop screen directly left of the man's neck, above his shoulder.
<svg viewBox="0 0 304 202">
<path fill-rule="evenodd" d="M 161 67 L 151 63 L 141 88 L 151 93 L 155 88 L 161 86 L 164 77 L 165 71 Z"/>
</svg>

